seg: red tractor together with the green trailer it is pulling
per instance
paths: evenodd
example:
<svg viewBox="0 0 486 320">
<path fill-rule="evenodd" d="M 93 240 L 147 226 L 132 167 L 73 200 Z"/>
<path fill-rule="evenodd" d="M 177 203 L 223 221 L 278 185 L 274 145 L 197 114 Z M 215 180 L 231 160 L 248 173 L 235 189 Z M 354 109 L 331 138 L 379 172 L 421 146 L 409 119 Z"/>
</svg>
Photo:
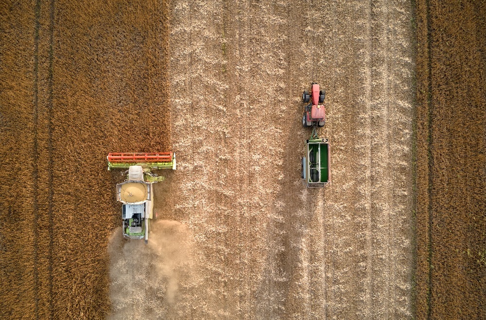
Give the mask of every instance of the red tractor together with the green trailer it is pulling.
<svg viewBox="0 0 486 320">
<path fill-rule="evenodd" d="M 328 139 L 317 136 L 317 127 L 323 127 L 326 122 L 326 94 L 317 83 L 311 84 L 311 93 L 310 102 L 308 92 L 302 94 L 302 102 L 306 103 L 302 125 L 304 128 L 312 127 L 311 137 L 306 143 L 306 155 L 302 157 L 302 179 L 307 187 L 316 188 L 325 187 L 330 181 L 330 148 Z"/>
</svg>

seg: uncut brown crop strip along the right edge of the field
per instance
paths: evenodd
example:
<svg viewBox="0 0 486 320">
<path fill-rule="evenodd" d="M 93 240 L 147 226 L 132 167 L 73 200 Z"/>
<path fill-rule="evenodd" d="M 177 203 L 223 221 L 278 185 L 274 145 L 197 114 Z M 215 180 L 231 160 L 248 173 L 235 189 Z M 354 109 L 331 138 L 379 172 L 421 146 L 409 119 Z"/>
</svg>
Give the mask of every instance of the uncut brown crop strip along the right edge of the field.
<svg viewBox="0 0 486 320">
<path fill-rule="evenodd" d="M 486 319 L 486 2 L 416 10 L 417 319 Z"/>
</svg>

